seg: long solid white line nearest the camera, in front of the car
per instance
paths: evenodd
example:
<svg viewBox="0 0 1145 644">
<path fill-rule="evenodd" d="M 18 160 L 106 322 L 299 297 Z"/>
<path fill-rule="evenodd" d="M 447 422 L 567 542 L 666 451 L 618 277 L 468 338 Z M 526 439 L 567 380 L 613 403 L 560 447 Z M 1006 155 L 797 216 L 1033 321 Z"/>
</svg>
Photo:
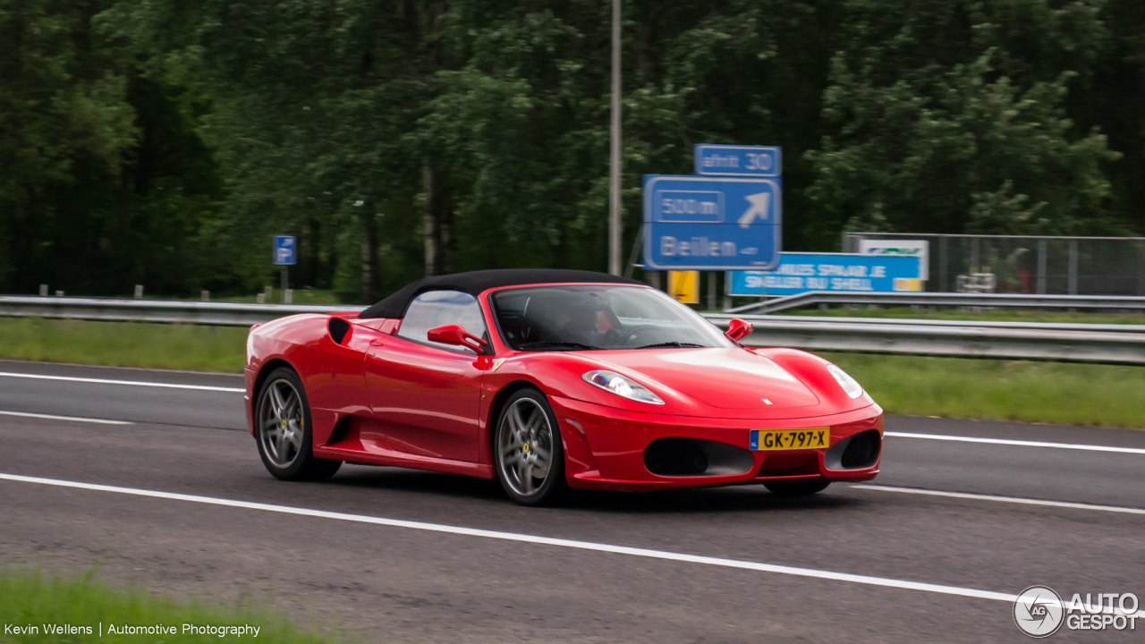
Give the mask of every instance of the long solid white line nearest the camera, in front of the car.
<svg viewBox="0 0 1145 644">
<path fill-rule="evenodd" d="M 955 586 L 940 586 L 934 583 L 922 583 L 916 581 L 901 581 L 895 579 L 884 579 L 877 576 L 856 575 L 847 573 L 835 573 L 828 571 L 816 571 L 812 568 L 796 568 L 791 566 L 777 566 L 773 564 L 759 564 L 756 561 L 742 561 L 737 559 L 721 559 L 718 557 L 702 557 L 697 555 L 682 555 L 678 552 L 666 552 L 662 550 L 647 550 L 643 548 L 629 548 L 625 545 L 610 545 L 607 543 L 593 543 L 589 541 L 574 541 L 568 539 L 552 539 L 547 536 L 534 536 L 512 532 L 497 532 L 477 528 L 465 528 L 439 524 L 426 524 L 421 521 L 405 521 L 400 519 L 385 519 L 381 517 L 369 517 L 364 515 L 347 515 L 344 512 L 327 512 L 325 510 L 309 510 L 306 508 L 291 508 L 289 505 L 273 505 L 269 503 L 253 503 L 248 501 L 232 501 L 229 498 L 215 498 L 211 496 L 196 496 L 191 494 L 175 494 L 169 492 L 156 492 L 150 489 L 137 489 L 131 487 L 117 487 L 109 485 L 85 484 L 77 481 L 65 481 L 58 479 L 44 479 L 38 477 L 22 477 L 18 474 L 0 473 L 0 480 L 48 485 L 56 487 L 69 487 L 95 492 L 113 492 L 117 494 L 129 494 L 134 496 L 148 496 L 152 498 L 166 498 L 172 501 L 190 501 L 192 503 L 205 503 L 208 505 L 223 505 L 227 508 L 242 508 L 246 510 L 264 510 L 268 512 L 279 512 L 283 515 L 298 515 L 303 517 L 317 517 L 322 519 L 337 519 L 342 521 L 355 521 L 360 524 L 373 524 L 380 526 L 420 529 L 463 536 L 477 536 L 484 539 L 497 539 L 502 541 L 519 541 L 540 545 L 555 545 L 560 548 L 574 548 L 577 550 L 593 550 L 597 552 L 610 552 L 615 555 L 629 555 L 633 557 L 647 557 L 650 559 L 666 559 L 670 561 L 685 561 L 689 564 L 705 564 L 709 566 L 721 566 L 727 568 L 742 568 L 766 573 L 777 573 L 795 576 L 824 579 L 831 581 L 847 581 L 863 583 L 868 586 L 882 586 L 887 588 L 899 588 L 906 590 L 921 590 L 924 592 L 939 592 L 942 595 L 958 595 L 962 597 L 973 597 L 979 599 L 994 599 L 998 602 L 1013 602 L 1017 596 L 1009 592 L 994 592 L 989 590 L 976 590 L 972 588 L 958 588 Z"/>
</svg>

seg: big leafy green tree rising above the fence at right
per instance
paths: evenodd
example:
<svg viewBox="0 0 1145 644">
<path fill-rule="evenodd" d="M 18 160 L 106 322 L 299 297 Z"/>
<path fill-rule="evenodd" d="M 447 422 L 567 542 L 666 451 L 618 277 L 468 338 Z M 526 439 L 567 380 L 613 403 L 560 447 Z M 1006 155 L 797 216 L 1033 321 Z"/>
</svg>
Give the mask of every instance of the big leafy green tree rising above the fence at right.
<svg viewBox="0 0 1145 644">
<path fill-rule="evenodd" d="M 1103 230 L 1119 155 L 1066 113 L 1107 41 L 1101 5 L 847 2 L 831 131 L 808 155 L 827 228 Z"/>
</svg>

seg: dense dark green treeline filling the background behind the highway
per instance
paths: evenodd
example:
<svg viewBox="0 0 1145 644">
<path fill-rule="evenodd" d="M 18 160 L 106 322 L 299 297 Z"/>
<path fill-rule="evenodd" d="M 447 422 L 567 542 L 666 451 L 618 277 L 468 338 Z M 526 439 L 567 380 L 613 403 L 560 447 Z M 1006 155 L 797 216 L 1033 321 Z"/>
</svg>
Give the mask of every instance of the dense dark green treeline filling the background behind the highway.
<svg viewBox="0 0 1145 644">
<path fill-rule="evenodd" d="M 371 300 L 607 266 L 607 0 L 0 0 L 0 291 Z M 640 176 L 784 148 L 784 245 L 1145 231 L 1140 0 L 624 3 Z M 624 249 L 627 254 L 629 248 Z"/>
</svg>

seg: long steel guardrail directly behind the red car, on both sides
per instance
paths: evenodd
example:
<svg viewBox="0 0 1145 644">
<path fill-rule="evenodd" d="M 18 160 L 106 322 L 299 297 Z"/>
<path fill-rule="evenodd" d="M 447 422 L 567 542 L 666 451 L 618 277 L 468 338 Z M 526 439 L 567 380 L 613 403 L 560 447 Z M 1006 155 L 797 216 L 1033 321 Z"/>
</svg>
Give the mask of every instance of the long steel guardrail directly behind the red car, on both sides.
<svg viewBox="0 0 1145 644">
<path fill-rule="evenodd" d="M 299 313 L 356 312 L 363 308 L 362 306 L 0 296 L 0 316 L 234 327 L 247 327 Z M 705 317 L 724 328 L 733 317 L 751 321 L 756 330 L 743 340 L 749 346 L 1145 364 L 1145 325 L 800 315 L 737 316 L 728 313 L 708 314 Z"/>
</svg>

